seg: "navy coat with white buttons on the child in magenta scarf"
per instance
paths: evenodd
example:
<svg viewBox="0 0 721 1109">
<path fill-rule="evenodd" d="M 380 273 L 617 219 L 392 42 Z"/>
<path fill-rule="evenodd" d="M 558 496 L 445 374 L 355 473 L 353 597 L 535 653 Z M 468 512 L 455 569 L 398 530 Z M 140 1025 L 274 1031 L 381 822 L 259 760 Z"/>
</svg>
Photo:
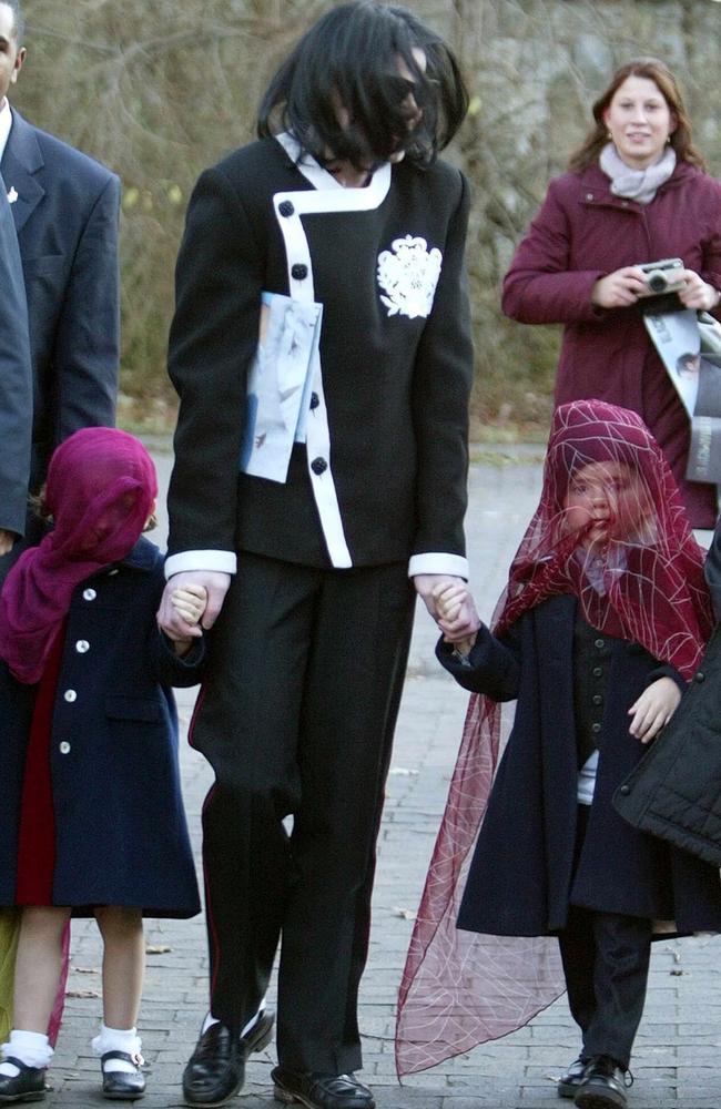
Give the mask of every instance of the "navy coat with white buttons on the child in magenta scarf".
<svg viewBox="0 0 721 1109">
<path fill-rule="evenodd" d="M 200 680 L 203 647 L 175 657 L 155 624 L 162 590 L 163 557 L 141 539 L 74 591 L 50 739 L 55 905 L 139 906 L 146 916 L 200 910 L 170 686 Z M 35 691 L 0 664 L 0 905 L 16 896 Z"/>
</svg>

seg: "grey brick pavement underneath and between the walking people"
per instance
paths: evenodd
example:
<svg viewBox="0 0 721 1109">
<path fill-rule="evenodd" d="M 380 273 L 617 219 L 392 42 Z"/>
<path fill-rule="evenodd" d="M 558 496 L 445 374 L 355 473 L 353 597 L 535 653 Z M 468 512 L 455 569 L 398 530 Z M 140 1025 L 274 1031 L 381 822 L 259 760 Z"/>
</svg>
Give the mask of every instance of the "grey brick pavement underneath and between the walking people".
<svg viewBox="0 0 721 1109">
<path fill-rule="evenodd" d="M 154 444 L 154 446 L 159 446 Z M 156 452 L 162 484 L 170 457 Z M 535 507 L 540 448 L 478 448 L 468 515 L 473 586 L 488 619 Z M 162 545 L 164 535 L 158 536 Z M 445 804 L 467 698 L 434 660 L 435 627 L 418 611 L 379 840 L 374 924 L 360 993 L 365 1069 L 378 1109 L 544 1109 L 559 1105 L 554 1078 L 578 1054 L 565 998 L 528 1027 L 400 1086 L 393 1055 L 395 1001 L 415 912 Z M 179 695 L 184 728 L 192 692 Z M 200 810 L 211 783 L 201 755 L 182 745 L 183 785 L 200 857 Z M 142 866 L 142 859 L 138 861 Z M 206 1007 L 202 917 L 148 923 L 148 977 L 140 1018 L 149 1064 L 144 1107 L 183 1103 L 181 1072 Z M 721 1109 L 721 937 L 654 945 L 650 989 L 633 1060 L 631 1109 Z M 95 1107 L 99 1066 L 90 1049 L 100 1018 L 100 944 L 92 922 L 75 922 L 63 1028 L 47 1105 Z M 242 1109 L 273 1103 L 271 1046 L 253 1056 Z M 568 1103 L 568 1102 L 566 1102 Z"/>
</svg>

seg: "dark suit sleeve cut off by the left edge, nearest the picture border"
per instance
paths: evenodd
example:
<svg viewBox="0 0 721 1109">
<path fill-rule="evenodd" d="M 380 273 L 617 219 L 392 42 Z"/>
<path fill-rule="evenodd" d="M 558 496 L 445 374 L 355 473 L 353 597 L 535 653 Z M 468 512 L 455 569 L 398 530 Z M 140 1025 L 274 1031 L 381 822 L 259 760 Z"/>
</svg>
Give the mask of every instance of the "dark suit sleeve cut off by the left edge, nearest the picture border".
<svg viewBox="0 0 721 1109">
<path fill-rule="evenodd" d="M 11 205 L 0 176 L 0 528 L 22 535 L 30 472 L 28 309 Z"/>
</svg>

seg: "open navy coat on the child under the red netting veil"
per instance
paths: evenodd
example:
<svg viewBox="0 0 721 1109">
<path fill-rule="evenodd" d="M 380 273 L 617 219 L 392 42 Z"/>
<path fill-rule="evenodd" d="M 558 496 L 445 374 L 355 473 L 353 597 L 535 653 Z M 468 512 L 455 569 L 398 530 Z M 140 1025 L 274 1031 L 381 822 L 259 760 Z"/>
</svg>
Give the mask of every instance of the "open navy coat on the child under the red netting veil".
<svg viewBox="0 0 721 1109">
<path fill-rule="evenodd" d="M 676 920 L 680 932 L 721 928 L 718 871 L 669 848 L 623 821 L 617 785 L 646 752 L 629 734 L 628 710 L 664 674 L 637 643 L 609 640 L 611 659 L 596 792 L 576 872 L 578 754 L 573 710 L 576 600 L 555 597 L 525 613 L 504 637 L 481 629 L 470 668 L 438 647 L 466 689 L 517 699 L 466 883 L 458 926 L 504 936 L 542 936 L 567 923 L 570 904 Z"/>
</svg>

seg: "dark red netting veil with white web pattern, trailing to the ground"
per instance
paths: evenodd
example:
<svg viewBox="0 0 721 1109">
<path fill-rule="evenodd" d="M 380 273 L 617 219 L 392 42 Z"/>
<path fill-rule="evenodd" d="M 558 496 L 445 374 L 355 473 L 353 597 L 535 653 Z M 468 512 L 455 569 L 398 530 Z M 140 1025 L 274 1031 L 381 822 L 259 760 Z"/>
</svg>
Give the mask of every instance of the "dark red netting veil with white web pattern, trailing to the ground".
<svg viewBox="0 0 721 1109">
<path fill-rule="evenodd" d="M 600 522 L 579 506 L 605 487 Z M 673 477 L 634 413 L 598 400 L 560 406 L 538 508 L 510 567 L 491 631 L 501 634 L 548 597 L 577 597 L 588 623 L 641 643 L 689 679 L 713 627 Z M 456 928 L 512 705 L 473 695 L 445 814 L 400 985 L 396 1066 L 425 1070 L 515 1031 L 565 986 L 555 937 Z M 507 719 L 508 718 L 508 719 Z"/>
</svg>

